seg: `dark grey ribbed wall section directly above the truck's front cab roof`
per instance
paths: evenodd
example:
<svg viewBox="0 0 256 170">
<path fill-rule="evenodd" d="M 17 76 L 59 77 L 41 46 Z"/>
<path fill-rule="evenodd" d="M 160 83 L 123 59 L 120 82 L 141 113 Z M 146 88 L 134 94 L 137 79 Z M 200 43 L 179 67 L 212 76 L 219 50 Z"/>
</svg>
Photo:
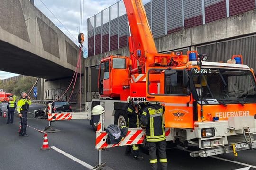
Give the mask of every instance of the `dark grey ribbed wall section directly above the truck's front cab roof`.
<svg viewBox="0 0 256 170">
<path fill-rule="evenodd" d="M 199 53 L 209 55 L 209 61 L 226 62 L 233 55 L 241 54 L 244 64 L 256 70 L 256 35 L 231 41 L 197 47 Z"/>
</svg>

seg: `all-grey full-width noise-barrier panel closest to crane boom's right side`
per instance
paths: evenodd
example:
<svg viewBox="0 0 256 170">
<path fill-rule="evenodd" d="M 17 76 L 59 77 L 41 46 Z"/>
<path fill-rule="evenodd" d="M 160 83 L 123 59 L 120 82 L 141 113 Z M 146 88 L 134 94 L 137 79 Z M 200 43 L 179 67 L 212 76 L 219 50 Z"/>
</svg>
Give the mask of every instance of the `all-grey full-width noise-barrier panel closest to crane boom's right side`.
<svg viewBox="0 0 256 170">
<path fill-rule="evenodd" d="M 155 38 L 165 35 L 165 0 L 152 0 L 152 33 Z"/>
</svg>

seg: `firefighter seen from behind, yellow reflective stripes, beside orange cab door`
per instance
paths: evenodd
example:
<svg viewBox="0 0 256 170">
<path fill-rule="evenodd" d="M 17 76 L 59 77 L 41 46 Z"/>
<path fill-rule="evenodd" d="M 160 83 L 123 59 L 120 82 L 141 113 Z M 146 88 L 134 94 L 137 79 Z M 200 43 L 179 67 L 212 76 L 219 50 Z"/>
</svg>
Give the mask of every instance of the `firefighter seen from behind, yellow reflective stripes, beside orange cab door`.
<svg viewBox="0 0 256 170">
<path fill-rule="evenodd" d="M 141 127 L 146 129 L 146 145 L 149 149 L 151 170 L 157 170 L 156 150 L 158 150 L 162 170 L 167 170 L 164 112 L 165 108 L 159 102 L 149 101 L 140 118 Z"/>
</svg>

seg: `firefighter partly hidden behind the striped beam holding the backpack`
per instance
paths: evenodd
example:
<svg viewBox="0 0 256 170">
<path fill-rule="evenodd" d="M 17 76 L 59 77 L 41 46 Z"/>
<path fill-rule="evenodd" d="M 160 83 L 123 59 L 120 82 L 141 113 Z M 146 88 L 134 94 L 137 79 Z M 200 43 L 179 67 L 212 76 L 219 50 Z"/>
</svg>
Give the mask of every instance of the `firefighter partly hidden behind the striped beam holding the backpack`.
<svg viewBox="0 0 256 170">
<path fill-rule="evenodd" d="M 128 128 L 138 128 L 139 127 L 139 113 L 135 102 L 129 96 L 127 98 L 127 110 L 128 114 Z M 143 156 L 139 155 L 139 145 L 133 144 L 126 146 L 125 155 L 130 155 L 131 150 L 133 151 L 134 158 L 137 160 L 144 160 Z"/>
</svg>

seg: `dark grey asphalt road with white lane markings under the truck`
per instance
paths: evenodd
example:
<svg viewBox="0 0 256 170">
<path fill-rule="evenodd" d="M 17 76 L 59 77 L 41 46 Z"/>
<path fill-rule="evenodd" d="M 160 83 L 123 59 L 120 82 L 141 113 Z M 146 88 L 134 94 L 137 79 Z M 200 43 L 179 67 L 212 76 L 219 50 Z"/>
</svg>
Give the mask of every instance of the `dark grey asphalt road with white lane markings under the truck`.
<svg viewBox="0 0 256 170">
<path fill-rule="evenodd" d="M 42 106 L 32 104 L 29 112 Z M 6 110 L 6 103 L 2 104 L 2 109 Z M 97 164 L 95 132 L 89 120 L 52 123 L 61 132 L 48 133 L 49 146 L 72 155 L 72 159 L 54 149 L 40 150 L 43 134 L 33 128 L 27 127 L 29 137 L 19 136 L 17 114 L 13 124 L 6 124 L 6 121 L 7 118 L 0 117 L 0 170 L 88 170 L 87 167 Z M 44 129 L 47 124 L 46 120 L 34 119 L 28 114 L 28 125 Z M 145 160 L 138 161 L 124 156 L 124 151 L 125 147 L 103 151 L 102 161 L 113 170 L 150 170 L 148 155 L 141 153 Z M 74 161 L 75 158 L 81 162 Z M 256 170 L 256 150 L 238 152 L 238 157 L 228 153 L 218 157 L 192 158 L 186 151 L 170 149 L 167 150 L 167 159 L 168 170 Z"/>
</svg>

